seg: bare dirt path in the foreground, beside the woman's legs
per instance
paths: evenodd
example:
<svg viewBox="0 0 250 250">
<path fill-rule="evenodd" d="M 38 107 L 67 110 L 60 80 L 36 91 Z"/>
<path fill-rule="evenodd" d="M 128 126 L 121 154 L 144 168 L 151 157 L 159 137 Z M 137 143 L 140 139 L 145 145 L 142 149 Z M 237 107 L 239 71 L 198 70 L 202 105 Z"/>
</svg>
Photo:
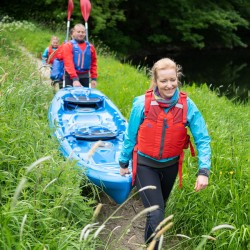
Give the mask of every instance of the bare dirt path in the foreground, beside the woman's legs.
<svg viewBox="0 0 250 250">
<path fill-rule="evenodd" d="M 124 205 L 117 205 L 107 195 L 102 194 L 101 203 L 103 206 L 100 215 L 97 218 L 99 223 L 107 220 L 107 218 L 119 208 L 113 218 L 110 218 L 107 221 L 106 226 L 102 231 L 101 238 L 107 244 L 107 248 L 105 249 L 145 250 L 145 215 L 141 216 L 131 224 L 131 220 L 144 209 L 139 196 L 134 196 Z"/>
</svg>

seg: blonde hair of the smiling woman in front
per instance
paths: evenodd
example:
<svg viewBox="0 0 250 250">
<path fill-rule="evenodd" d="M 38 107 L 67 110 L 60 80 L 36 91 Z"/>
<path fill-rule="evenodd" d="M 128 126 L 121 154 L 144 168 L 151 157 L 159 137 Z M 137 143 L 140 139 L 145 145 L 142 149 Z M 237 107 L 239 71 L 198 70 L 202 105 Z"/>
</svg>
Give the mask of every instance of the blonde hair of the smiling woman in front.
<svg viewBox="0 0 250 250">
<path fill-rule="evenodd" d="M 162 69 L 174 69 L 176 71 L 176 76 L 178 78 L 178 83 L 180 83 L 180 79 L 182 74 L 182 67 L 176 62 L 170 58 L 162 58 L 158 60 L 152 67 L 152 70 L 150 71 L 151 75 L 151 84 L 150 84 L 150 89 L 153 89 L 156 86 L 156 81 L 158 78 L 158 71 Z"/>
</svg>

